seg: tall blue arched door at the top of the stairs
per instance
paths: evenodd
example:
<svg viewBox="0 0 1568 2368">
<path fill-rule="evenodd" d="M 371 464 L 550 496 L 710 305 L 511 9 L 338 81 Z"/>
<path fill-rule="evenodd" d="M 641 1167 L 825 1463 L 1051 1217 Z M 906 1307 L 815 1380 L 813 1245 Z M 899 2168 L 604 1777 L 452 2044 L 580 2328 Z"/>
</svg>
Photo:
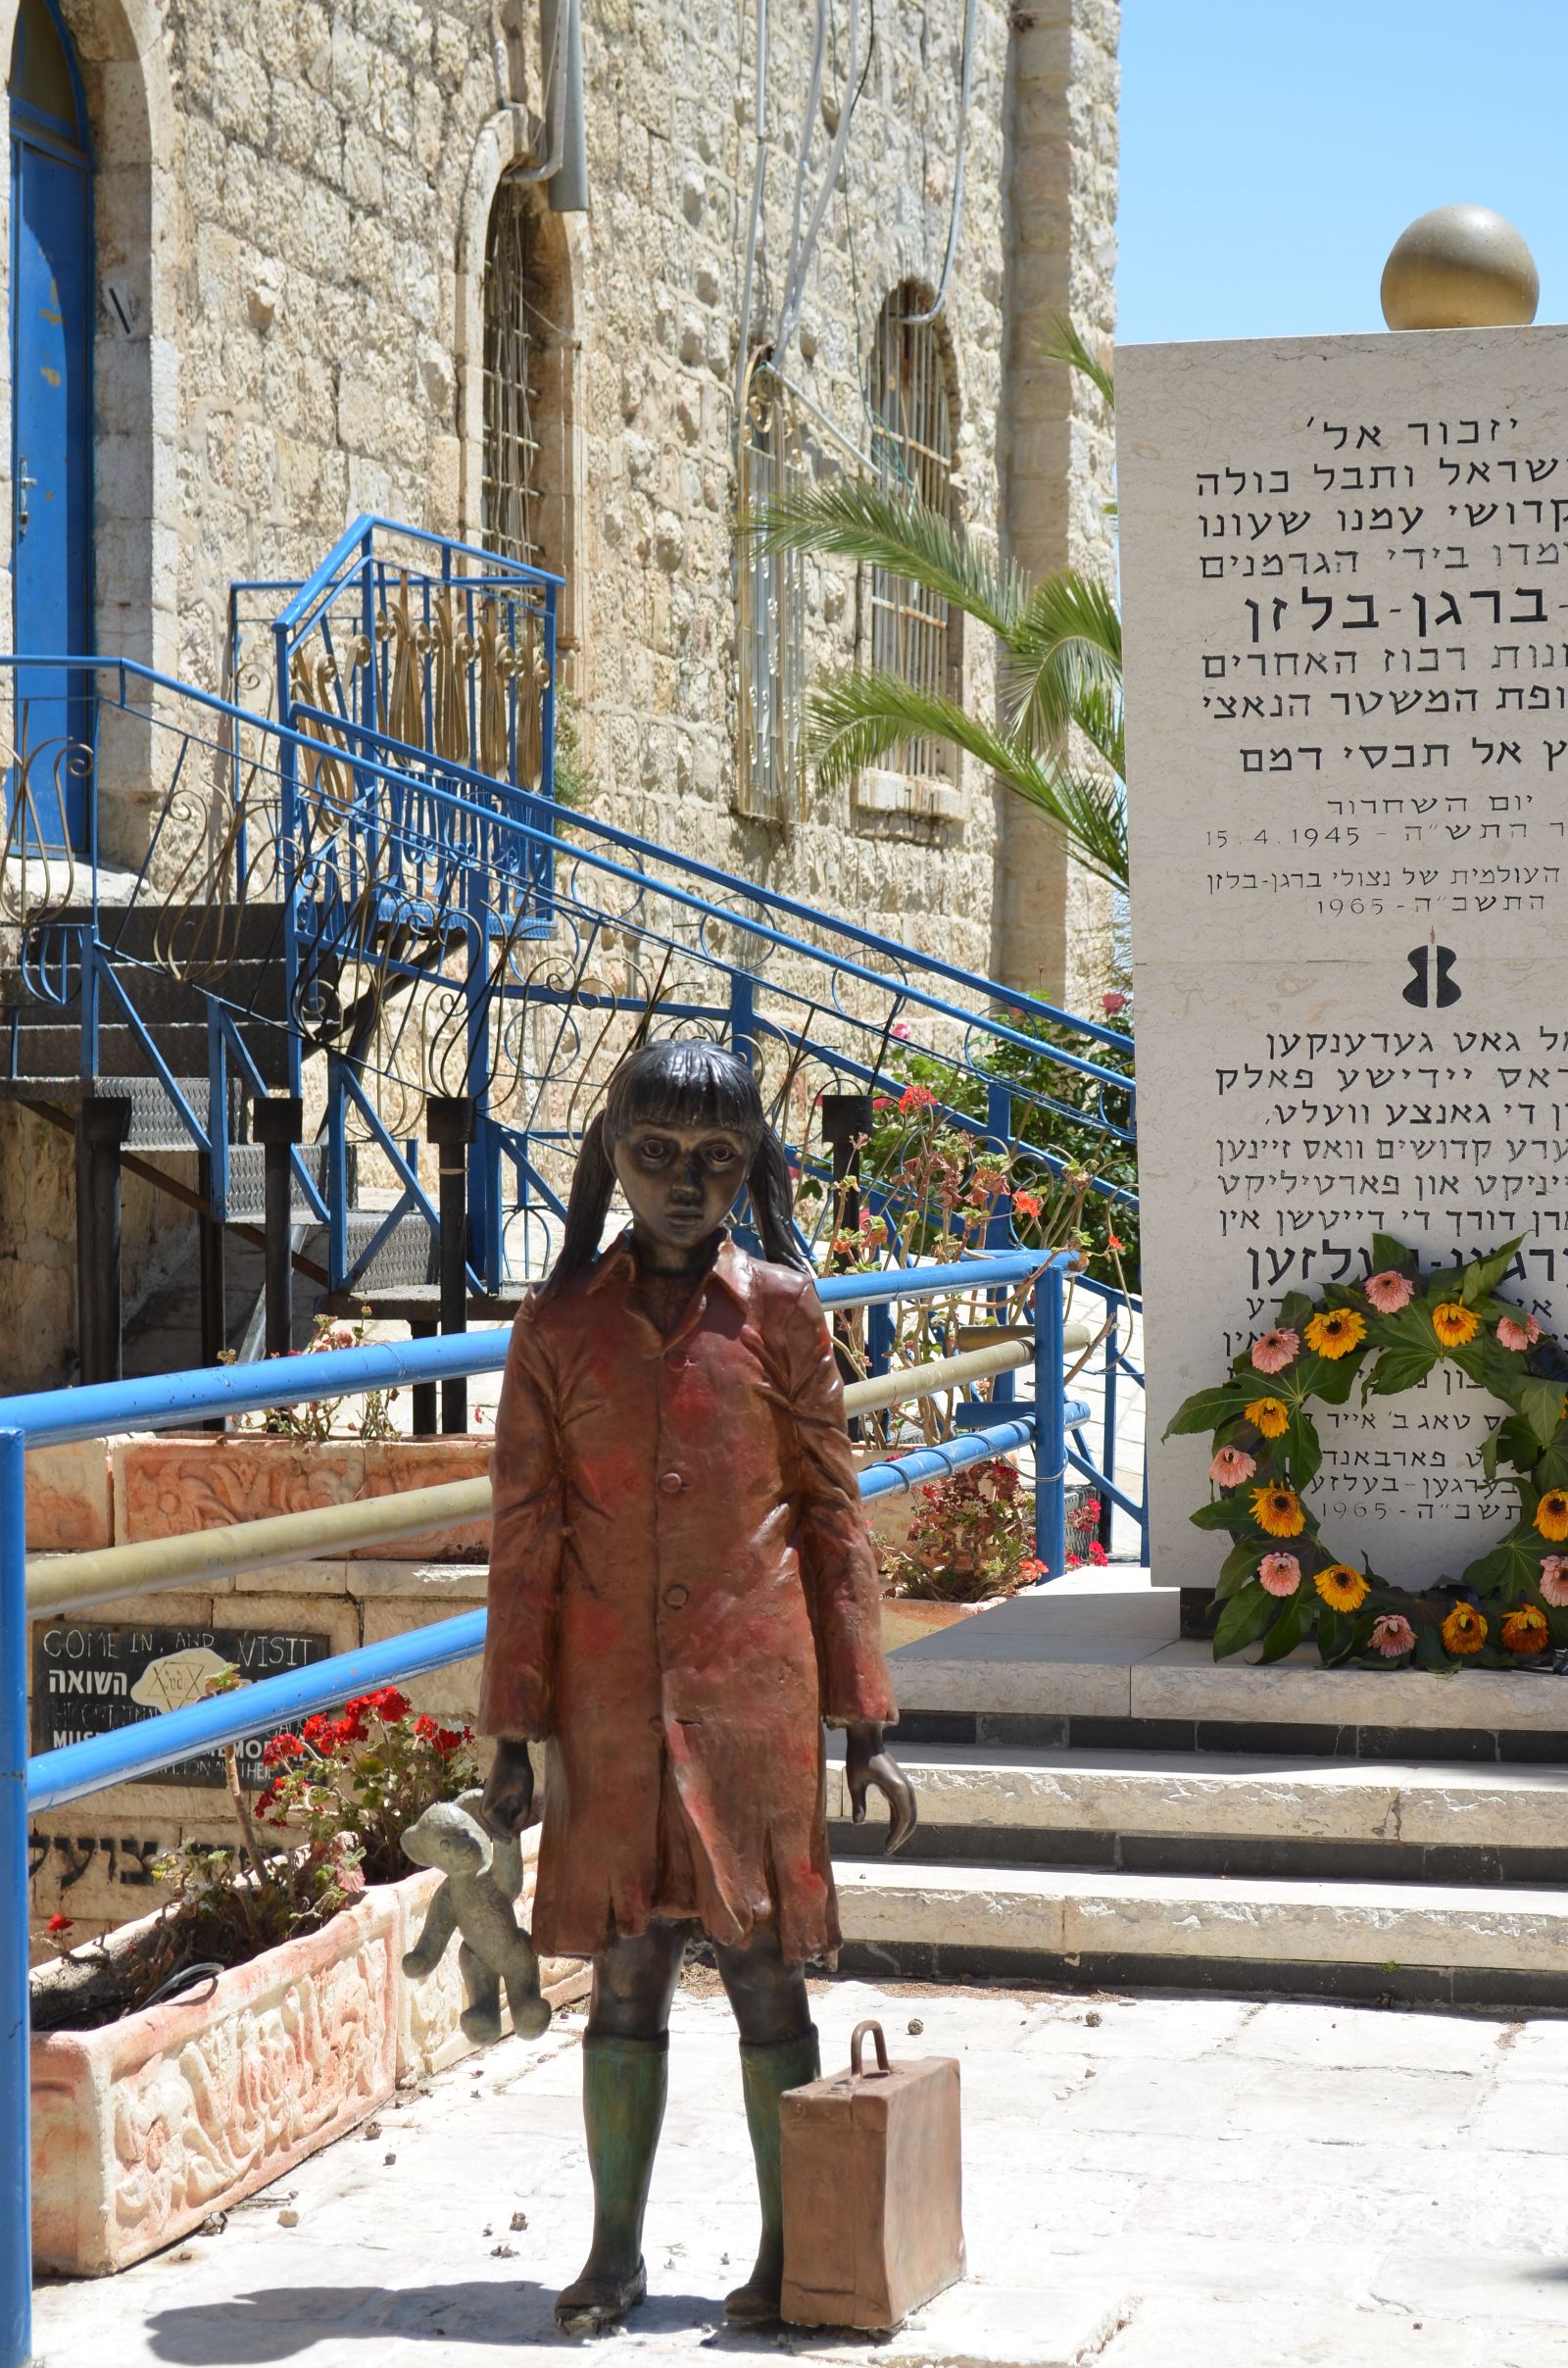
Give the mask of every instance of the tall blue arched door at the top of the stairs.
<svg viewBox="0 0 1568 2368">
<path fill-rule="evenodd" d="M 12 111 L 12 604 L 21 656 L 88 654 L 92 637 L 92 168 L 88 109 L 54 0 L 21 0 Z M 17 736 L 83 725 L 78 677 L 17 670 Z M 43 845 L 85 843 L 78 765 L 31 770 Z M 64 810 L 62 810 L 64 807 Z"/>
</svg>

